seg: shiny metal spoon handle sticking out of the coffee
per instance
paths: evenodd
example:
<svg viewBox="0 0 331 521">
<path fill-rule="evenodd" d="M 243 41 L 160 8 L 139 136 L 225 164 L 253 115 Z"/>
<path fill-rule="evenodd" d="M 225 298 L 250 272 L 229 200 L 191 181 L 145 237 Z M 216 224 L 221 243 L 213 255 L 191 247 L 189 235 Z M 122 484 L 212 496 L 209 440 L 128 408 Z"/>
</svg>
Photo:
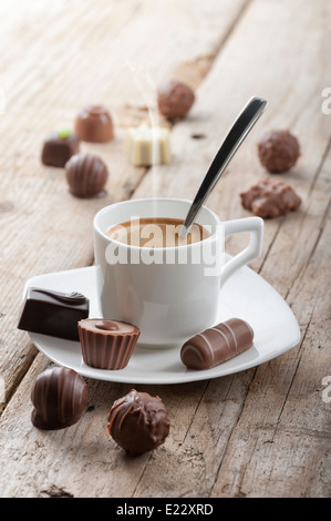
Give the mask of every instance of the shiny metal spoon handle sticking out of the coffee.
<svg viewBox="0 0 331 521">
<path fill-rule="evenodd" d="M 183 225 L 185 234 L 193 224 L 196 214 L 210 194 L 217 181 L 224 173 L 235 152 L 240 146 L 257 120 L 260 118 L 266 106 L 266 100 L 262 100 L 261 98 L 251 98 L 251 100 L 238 115 L 225 141 L 220 145 L 220 149 L 210 164 L 208 172 L 194 198 L 194 202 L 192 203 L 190 210 Z"/>
</svg>

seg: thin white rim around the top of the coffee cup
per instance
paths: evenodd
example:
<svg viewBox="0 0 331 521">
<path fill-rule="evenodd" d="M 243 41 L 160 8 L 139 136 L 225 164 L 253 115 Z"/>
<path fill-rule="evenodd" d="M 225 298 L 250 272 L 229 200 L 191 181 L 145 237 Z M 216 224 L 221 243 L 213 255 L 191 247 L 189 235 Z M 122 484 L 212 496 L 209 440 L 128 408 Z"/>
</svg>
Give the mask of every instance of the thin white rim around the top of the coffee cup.
<svg viewBox="0 0 331 521">
<path fill-rule="evenodd" d="M 103 238 L 105 238 L 106 241 L 108 241 L 108 243 L 114 243 L 115 245 L 117 246 L 121 246 L 121 247 L 125 247 L 125 248 L 128 248 L 128 249 L 133 249 L 133 251 L 141 251 L 141 249 L 151 249 L 153 251 L 154 248 L 148 248 L 146 246 L 134 246 L 132 244 L 125 244 L 125 243 L 121 243 L 120 241 L 116 241 L 112 237 L 110 237 L 108 235 L 106 235 L 104 232 L 102 232 L 100 229 L 100 226 L 97 226 L 96 224 L 96 221 L 97 218 L 100 217 L 101 214 L 105 213 L 110 207 L 114 207 L 114 206 L 120 206 L 120 205 L 123 205 L 123 204 L 133 204 L 133 203 L 142 203 L 142 202 L 152 202 L 152 201 L 175 201 L 175 202 L 178 202 L 178 203 L 187 203 L 188 205 L 192 204 L 192 201 L 190 200 L 185 200 L 185 198 L 179 198 L 179 197 L 142 197 L 142 198 L 137 198 L 137 200 L 125 200 L 125 201 L 118 201 L 117 203 L 113 203 L 113 204 L 108 204 L 107 206 L 104 206 L 103 208 L 101 208 L 95 215 L 94 215 L 94 218 L 93 218 L 93 229 L 94 232 L 97 232 Z M 216 219 L 217 222 L 217 225 L 221 225 L 221 221 L 220 218 L 218 217 L 218 215 L 210 208 L 208 208 L 207 206 L 203 205 L 200 210 L 205 210 L 207 212 L 209 212 L 209 214 L 213 215 L 213 217 Z M 183 249 L 183 248 L 192 248 L 192 247 L 199 247 L 203 243 L 206 244 L 207 242 L 211 242 L 211 241 L 215 241 L 217 238 L 217 229 L 215 233 L 213 233 L 209 237 L 206 237 L 204 238 L 203 241 L 198 241 L 196 243 L 190 243 L 190 244 L 183 244 L 180 246 L 164 246 L 164 247 L 159 247 L 157 248 L 158 251 L 172 251 L 172 249 Z"/>
</svg>

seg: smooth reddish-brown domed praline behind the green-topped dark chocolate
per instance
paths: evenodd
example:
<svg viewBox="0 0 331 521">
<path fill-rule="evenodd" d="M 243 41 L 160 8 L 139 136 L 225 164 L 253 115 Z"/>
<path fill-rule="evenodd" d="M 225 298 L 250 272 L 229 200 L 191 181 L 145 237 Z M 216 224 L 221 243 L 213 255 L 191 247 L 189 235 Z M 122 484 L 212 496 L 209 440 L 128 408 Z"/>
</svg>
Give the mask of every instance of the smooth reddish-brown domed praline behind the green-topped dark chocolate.
<svg viewBox="0 0 331 521">
<path fill-rule="evenodd" d="M 75 131 L 80 140 L 90 143 L 106 143 L 114 137 L 112 116 L 102 105 L 83 109 L 76 116 Z"/>
</svg>

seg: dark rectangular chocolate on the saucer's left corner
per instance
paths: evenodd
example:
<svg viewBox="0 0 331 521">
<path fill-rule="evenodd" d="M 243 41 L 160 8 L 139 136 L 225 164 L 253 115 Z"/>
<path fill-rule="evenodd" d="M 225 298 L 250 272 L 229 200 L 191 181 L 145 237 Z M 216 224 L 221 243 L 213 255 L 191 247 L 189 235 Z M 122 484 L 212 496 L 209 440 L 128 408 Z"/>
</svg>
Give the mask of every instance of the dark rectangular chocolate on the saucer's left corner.
<svg viewBox="0 0 331 521">
<path fill-rule="evenodd" d="M 90 302 L 80 293 L 30 287 L 18 328 L 52 337 L 79 340 L 77 323 L 89 316 Z"/>
</svg>

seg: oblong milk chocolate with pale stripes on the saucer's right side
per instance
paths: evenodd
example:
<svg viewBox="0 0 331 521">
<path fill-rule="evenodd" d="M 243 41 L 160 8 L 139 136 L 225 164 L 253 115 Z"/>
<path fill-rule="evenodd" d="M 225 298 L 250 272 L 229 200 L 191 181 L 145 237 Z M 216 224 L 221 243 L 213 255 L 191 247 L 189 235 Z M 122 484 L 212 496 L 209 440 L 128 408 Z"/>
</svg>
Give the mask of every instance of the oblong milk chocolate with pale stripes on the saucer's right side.
<svg viewBox="0 0 331 521">
<path fill-rule="evenodd" d="M 187 340 L 180 358 L 188 369 L 210 369 L 252 346 L 254 330 L 240 318 L 210 327 Z"/>
</svg>

